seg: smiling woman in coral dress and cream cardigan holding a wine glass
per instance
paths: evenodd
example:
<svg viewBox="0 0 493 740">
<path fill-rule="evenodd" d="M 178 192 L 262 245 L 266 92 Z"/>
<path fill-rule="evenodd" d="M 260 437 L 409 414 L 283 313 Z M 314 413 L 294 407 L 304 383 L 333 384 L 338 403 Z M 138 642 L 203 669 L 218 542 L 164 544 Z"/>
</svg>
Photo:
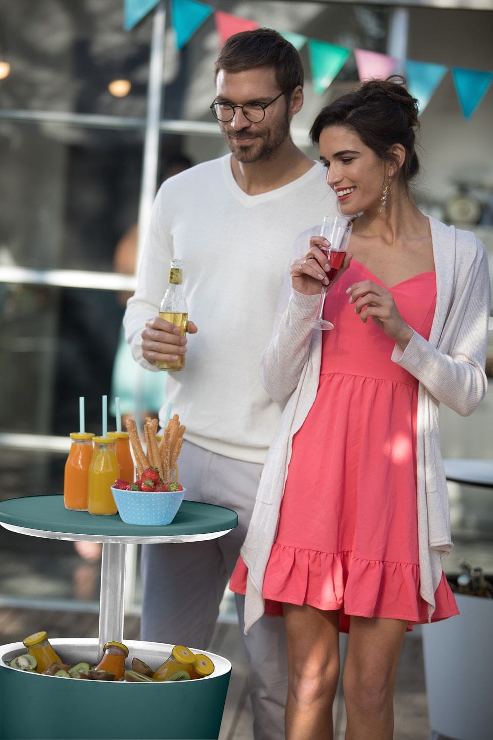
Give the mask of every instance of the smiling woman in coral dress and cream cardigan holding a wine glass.
<svg viewBox="0 0 493 740">
<path fill-rule="evenodd" d="M 327 284 L 327 242 L 313 235 L 262 365 L 286 406 L 231 588 L 246 594 L 245 630 L 264 610 L 284 615 L 288 740 L 333 737 L 339 630 L 346 738 L 391 739 L 405 631 L 458 613 L 441 571 L 452 543 L 438 406 L 471 414 L 486 392 L 489 273 L 472 233 L 412 200 L 418 107 L 403 83 L 368 81 L 316 118 L 327 184 L 342 215 L 358 214 L 325 301 L 335 328 L 302 320 Z"/>
</svg>

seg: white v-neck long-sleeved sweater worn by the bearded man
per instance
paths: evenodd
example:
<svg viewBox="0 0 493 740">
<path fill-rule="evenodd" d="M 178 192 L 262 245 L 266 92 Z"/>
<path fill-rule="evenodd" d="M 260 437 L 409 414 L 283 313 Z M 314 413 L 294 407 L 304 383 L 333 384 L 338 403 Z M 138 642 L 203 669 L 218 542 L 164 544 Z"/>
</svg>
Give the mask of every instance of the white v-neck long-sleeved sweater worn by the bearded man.
<svg viewBox="0 0 493 740">
<path fill-rule="evenodd" d="M 156 370 L 142 357 L 141 333 L 159 311 L 169 261 L 183 259 L 188 317 L 198 332 L 188 336 L 185 368 L 168 374 L 166 393 L 189 442 L 264 461 L 282 412 L 259 378 L 279 291 L 297 235 L 335 212 L 324 168 L 315 162 L 302 177 L 261 195 L 239 188 L 231 155 L 161 186 L 123 323 L 137 362 Z"/>
</svg>

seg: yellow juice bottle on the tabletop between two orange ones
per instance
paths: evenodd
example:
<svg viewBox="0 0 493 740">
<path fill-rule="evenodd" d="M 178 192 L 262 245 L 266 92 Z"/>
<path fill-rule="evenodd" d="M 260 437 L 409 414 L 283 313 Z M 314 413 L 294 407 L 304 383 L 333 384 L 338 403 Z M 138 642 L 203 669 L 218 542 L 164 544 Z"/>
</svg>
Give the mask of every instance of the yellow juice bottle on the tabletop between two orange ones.
<svg viewBox="0 0 493 740">
<path fill-rule="evenodd" d="M 112 485 L 120 477 L 120 468 L 115 452 L 115 440 L 111 437 L 94 437 L 94 451 L 89 465 L 87 511 L 89 514 L 116 514 L 118 509 L 113 499 Z"/>
</svg>

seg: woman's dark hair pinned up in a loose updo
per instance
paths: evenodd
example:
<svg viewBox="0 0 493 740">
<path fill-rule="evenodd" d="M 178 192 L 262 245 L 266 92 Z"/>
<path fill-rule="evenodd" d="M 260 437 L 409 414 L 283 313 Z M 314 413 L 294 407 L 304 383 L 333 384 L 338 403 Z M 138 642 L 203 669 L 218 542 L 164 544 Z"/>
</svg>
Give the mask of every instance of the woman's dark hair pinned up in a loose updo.
<svg viewBox="0 0 493 740">
<path fill-rule="evenodd" d="M 392 144 L 402 144 L 406 158 L 401 167 L 404 183 L 418 173 L 415 129 L 419 128 L 418 101 L 409 95 L 401 75 L 387 80 L 369 80 L 354 92 L 324 107 L 310 129 L 310 140 L 319 144 L 323 129 L 345 126 L 353 130 L 378 158 L 392 161 Z"/>
</svg>

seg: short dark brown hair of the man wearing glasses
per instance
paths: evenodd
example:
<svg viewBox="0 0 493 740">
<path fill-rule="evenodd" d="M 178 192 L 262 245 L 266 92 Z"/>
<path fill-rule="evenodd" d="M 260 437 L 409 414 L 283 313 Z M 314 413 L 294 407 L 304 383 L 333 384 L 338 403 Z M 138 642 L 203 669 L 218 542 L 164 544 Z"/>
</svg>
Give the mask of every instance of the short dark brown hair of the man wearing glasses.
<svg viewBox="0 0 493 740">
<path fill-rule="evenodd" d="M 245 72 L 258 67 L 273 67 L 279 90 L 288 95 L 298 85 L 303 86 L 304 70 L 299 53 L 293 44 L 271 28 L 256 28 L 230 36 L 214 64 L 214 77 L 220 70 Z"/>
</svg>

